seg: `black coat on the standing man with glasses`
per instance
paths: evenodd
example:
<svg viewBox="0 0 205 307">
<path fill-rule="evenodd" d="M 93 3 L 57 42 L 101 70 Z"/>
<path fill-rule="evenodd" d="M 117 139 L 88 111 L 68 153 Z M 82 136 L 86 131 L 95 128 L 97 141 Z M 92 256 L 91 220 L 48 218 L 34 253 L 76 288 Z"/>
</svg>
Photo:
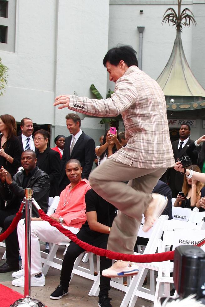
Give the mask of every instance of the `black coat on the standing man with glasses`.
<svg viewBox="0 0 205 307">
<path fill-rule="evenodd" d="M 38 156 L 43 155 L 43 159 L 38 161 Z M 49 196 L 55 197 L 59 195 L 59 178 L 60 178 L 60 154 L 47 146 L 44 153 L 36 151 L 37 165 L 50 177 L 50 193 Z"/>
</svg>

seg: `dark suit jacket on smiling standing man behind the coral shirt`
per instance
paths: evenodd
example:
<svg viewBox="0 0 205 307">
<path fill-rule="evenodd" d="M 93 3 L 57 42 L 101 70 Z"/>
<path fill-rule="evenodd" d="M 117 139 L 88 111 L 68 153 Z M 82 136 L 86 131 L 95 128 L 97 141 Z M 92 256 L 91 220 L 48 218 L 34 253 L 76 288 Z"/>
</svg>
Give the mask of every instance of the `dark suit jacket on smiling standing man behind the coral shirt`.
<svg viewBox="0 0 205 307">
<path fill-rule="evenodd" d="M 78 138 L 75 146 L 73 147 L 72 153 L 70 155 L 72 135 L 66 138 L 65 146 L 63 150 L 63 156 L 61 159 L 61 177 L 60 185 L 64 182 L 64 185 L 68 185 L 70 180 L 66 176 L 66 162 L 70 159 L 77 159 L 82 165 L 82 179 L 87 179 L 92 170 L 92 165 L 95 155 L 95 142 L 87 134 L 82 132 Z"/>
</svg>

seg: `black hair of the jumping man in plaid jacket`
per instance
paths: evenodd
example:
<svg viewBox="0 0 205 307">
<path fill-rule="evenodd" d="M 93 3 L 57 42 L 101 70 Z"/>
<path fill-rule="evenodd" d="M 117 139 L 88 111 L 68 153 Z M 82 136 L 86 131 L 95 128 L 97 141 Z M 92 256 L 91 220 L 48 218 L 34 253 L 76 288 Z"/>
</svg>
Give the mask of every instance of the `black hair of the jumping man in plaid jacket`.
<svg viewBox="0 0 205 307">
<path fill-rule="evenodd" d="M 128 45 L 121 45 L 108 50 L 103 59 L 103 65 L 106 67 L 106 63 L 110 62 L 110 64 L 117 66 L 121 60 L 128 67 L 132 65 L 138 66 L 136 51 L 132 46 Z"/>
</svg>

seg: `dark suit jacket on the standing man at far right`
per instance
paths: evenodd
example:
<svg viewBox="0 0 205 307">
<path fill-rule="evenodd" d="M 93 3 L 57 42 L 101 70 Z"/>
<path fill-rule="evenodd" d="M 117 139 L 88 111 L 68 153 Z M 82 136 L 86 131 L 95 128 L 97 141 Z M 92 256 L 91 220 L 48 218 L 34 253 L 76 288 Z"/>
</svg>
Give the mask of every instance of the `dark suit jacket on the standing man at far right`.
<svg viewBox="0 0 205 307">
<path fill-rule="evenodd" d="M 181 149 L 180 153 L 178 152 L 178 145 L 179 145 L 179 140 L 176 140 L 171 143 L 173 153 L 174 153 L 174 159 L 175 161 L 181 157 L 187 156 L 187 149 L 189 148 L 190 145 L 194 143 L 193 140 L 189 139 L 186 145 Z M 170 169 L 168 172 L 168 183 L 171 188 L 171 190 L 176 190 L 178 192 L 181 191 L 182 185 L 184 181 L 184 175 L 181 174 L 180 172 L 177 172 L 175 169 Z M 175 197 L 176 195 L 173 195 Z"/>
</svg>

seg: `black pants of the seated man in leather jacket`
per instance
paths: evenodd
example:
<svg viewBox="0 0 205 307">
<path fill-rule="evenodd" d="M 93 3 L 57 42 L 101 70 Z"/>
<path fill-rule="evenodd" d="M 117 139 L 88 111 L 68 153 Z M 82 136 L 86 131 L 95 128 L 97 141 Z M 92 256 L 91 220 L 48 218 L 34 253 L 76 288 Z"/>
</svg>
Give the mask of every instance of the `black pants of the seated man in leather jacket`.
<svg viewBox="0 0 205 307">
<path fill-rule="evenodd" d="M 15 214 L 10 215 L 12 211 L 0 210 L 0 227 L 3 227 L 4 231 L 11 225 Z M 9 216 L 8 216 L 9 214 Z M 22 218 L 25 217 L 23 213 Z M 17 227 L 14 231 L 6 238 L 6 262 L 12 266 L 18 266 L 18 235 Z"/>
</svg>

